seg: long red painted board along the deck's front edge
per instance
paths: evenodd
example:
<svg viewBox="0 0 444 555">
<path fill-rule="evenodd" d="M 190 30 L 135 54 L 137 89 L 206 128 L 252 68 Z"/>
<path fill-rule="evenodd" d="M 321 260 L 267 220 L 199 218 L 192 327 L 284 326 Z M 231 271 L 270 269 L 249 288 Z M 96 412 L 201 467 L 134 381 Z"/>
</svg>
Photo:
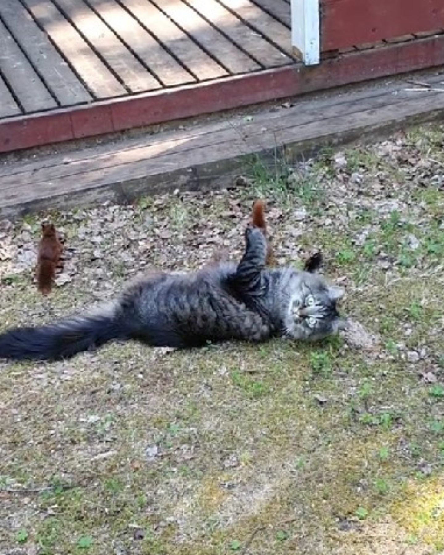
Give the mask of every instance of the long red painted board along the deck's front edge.
<svg viewBox="0 0 444 555">
<path fill-rule="evenodd" d="M 444 35 L 0 122 L 0 152 L 94 137 L 444 64 Z"/>
</svg>

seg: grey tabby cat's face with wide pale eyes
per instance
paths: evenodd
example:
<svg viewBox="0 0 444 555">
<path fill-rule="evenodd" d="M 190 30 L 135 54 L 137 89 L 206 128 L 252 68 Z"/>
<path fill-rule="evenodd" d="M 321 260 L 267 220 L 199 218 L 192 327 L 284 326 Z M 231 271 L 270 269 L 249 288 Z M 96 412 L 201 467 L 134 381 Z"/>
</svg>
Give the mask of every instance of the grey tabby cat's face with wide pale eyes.
<svg viewBox="0 0 444 555">
<path fill-rule="evenodd" d="M 329 286 L 320 276 L 302 272 L 287 306 L 287 334 L 294 339 L 316 341 L 344 329 L 346 322 L 336 309 L 336 302 L 343 295 L 340 287 Z"/>
</svg>

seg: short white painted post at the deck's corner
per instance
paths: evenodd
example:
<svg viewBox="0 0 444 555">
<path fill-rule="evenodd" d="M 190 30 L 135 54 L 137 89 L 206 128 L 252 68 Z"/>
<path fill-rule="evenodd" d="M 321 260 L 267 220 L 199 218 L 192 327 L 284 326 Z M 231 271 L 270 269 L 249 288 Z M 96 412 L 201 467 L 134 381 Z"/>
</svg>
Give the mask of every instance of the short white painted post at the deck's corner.
<svg viewBox="0 0 444 555">
<path fill-rule="evenodd" d="M 291 0 L 291 44 L 305 65 L 319 64 L 319 0 Z"/>
</svg>

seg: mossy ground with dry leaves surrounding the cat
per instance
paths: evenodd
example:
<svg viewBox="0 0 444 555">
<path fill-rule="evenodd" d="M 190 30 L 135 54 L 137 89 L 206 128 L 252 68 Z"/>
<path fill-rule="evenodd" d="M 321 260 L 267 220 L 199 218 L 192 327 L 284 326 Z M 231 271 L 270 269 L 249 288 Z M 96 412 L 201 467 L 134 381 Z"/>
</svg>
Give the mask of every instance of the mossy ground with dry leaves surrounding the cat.
<svg viewBox="0 0 444 555">
<path fill-rule="evenodd" d="M 40 219 L 0 222 L 2 329 L 112 299 L 142 270 L 239 258 L 258 196 L 279 264 L 321 249 L 355 322 L 310 346 L 0 362 L 0 552 L 442 553 L 443 131 L 251 159 L 220 193 L 44 214 L 68 248 L 48 299 Z"/>
</svg>

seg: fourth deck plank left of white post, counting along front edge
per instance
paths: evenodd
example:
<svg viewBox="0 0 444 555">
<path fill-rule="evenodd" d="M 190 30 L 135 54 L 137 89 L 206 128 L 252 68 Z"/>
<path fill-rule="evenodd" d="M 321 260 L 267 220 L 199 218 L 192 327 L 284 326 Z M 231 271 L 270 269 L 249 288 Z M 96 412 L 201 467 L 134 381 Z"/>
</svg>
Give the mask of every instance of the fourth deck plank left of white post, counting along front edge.
<svg viewBox="0 0 444 555">
<path fill-rule="evenodd" d="M 183 85 L 196 81 L 190 72 L 185 70 L 151 34 L 140 26 L 122 6 L 114 0 L 88 0 L 113 31 L 129 44 L 130 48 L 143 60 L 160 81 L 168 86 Z M 147 4 L 149 6 L 149 4 Z M 155 24 L 154 18 L 149 23 L 150 29 Z M 218 75 L 216 75 L 218 76 Z"/>
</svg>

